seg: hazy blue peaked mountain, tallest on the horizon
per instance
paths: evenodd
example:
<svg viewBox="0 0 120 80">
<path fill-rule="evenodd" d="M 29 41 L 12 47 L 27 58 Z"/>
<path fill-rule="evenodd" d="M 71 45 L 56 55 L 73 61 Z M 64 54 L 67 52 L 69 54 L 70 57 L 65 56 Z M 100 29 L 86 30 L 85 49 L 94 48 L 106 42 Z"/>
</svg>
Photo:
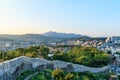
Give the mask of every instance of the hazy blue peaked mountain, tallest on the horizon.
<svg viewBox="0 0 120 80">
<path fill-rule="evenodd" d="M 52 32 L 52 31 L 43 33 L 41 35 L 47 36 L 47 37 L 53 37 L 53 38 L 80 38 L 82 36 L 80 34 L 74 34 L 74 33 L 67 34 L 67 33 L 58 33 L 58 32 Z"/>
</svg>

